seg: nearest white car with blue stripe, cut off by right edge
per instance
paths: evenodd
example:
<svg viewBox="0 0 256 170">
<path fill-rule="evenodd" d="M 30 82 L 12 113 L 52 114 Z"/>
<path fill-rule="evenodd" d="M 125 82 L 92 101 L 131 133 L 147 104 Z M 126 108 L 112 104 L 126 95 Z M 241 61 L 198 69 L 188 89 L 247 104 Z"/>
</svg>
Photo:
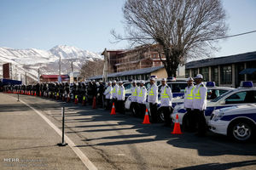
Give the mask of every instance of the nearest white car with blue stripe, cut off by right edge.
<svg viewBox="0 0 256 170">
<path fill-rule="evenodd" d="M 255 135 L 256 104 L 227 107 L 212 112 L 208 122 L 213 133 L 247 141 Z"/>
</svg>

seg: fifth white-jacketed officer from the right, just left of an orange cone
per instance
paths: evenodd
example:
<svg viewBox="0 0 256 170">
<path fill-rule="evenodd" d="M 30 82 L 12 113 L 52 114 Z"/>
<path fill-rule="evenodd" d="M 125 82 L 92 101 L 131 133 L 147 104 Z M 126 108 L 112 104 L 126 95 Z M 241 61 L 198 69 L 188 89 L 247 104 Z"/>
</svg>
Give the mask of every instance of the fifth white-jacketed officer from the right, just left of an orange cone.
<svg viewBox="0 0 256 170">
<path fill-rule="evenodd" d="M 139 92 L 137 94 L 137 103 L 139 108 L 139 116 L 144 116 L 146 112 L 147 89 L 144 86 L 145 81 L 141 81 Z"/>
</svg>

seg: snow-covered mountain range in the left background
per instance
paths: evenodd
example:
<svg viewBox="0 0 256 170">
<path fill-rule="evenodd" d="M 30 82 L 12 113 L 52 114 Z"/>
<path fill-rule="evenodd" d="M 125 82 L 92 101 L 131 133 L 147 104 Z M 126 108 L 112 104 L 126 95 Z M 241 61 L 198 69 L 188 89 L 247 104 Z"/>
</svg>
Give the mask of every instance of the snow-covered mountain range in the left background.
<svg viewBox="0 0 256 170">
<path fill-rule="evenodd" d="M 0 48 L 0 65 L 12 64 L 12 77 L 23 80 L 25 74 L 33 80 L 38 80 L 38 69 L 41 74 L 59 74 L 59 62 L 61 57 L 61 74 L 80 71 L 82 65 L 88 60 L 103 59 L 100 54 L 87 50 L 59 45 L 46 50 L 29 48 L 14 49 Z M 0 77 L 3 77 L 3 67 L 0 66 Z"/>
</svg>

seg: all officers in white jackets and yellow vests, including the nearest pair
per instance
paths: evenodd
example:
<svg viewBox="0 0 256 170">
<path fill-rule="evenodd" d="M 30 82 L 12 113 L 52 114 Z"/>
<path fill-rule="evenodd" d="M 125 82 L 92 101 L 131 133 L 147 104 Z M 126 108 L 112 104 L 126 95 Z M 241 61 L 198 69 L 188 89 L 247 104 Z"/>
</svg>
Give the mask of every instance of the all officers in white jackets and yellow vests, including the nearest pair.
<svg viewBox="0 0 256 170">
<path fill-rule="evenodd" d="M 195 79 L 195 86 L 194 86 Z M 207 132 L 207 122 L 204 116 L 205 110 L 207 108 L 207 88 L 203 84 L 203 77 L 198 74 L 196 77 L 189 77 L 187 80 L 188 87 L 184 91 L 184 108 L 188 113 L 188 125 L 186 130 L 194 132 L 195 129 L 198 130 L 197 135 L 203 136 Z M 119 86 L 116 82 L 108 82 L 108 88 L 105 90 L 104 95 L 108 99 L 108 108 L 110 108 L 111 99 L 117 105 L 117 111 L 125 112 L 125 88 L 119 82 Z M 151 113 L 151 122 L 158 122 L 158 87 L 155 83 L 154 77 L 150 78 L 150 88 L 144 87 L 145 82 L 141 81 L 140 86 L 137 86 L 137 82 L 132 82 L 131 88 L 131 111 L 135 116 L 144 116 L 146 111 L 146 99 L 148 95 L 148 103 Z M 160 88 L 160 105 L 161 111 L 165 117 L 165 126 L 171 126 L 171 113 L 172 109 L 172 89 L 167 85 L 166 78 L 161 79 Z M 184 125 L 185 126 L 185 125 Z"/>
</svg>

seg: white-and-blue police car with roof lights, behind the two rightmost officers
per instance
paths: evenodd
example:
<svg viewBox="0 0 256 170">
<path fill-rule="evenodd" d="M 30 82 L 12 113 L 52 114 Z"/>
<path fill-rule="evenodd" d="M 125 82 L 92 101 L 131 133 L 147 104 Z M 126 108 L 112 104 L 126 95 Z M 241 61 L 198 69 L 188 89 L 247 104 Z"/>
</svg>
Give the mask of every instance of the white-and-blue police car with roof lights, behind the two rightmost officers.
<svg viewBox="0 0 256 170">
<path fill-rule="evenodd" d="M 241 82 L 240 88 L 229 90 L 226 93 L 219 95 L 216 99 L 208 101 L 205 117 L 208 122 L 212 115 L 212 111 L 225 107 L 253 103 L 256 103 L 256 88 L 253 88 L 253 82 Z M 183 105 L 177 105 L 171 115 L 172 122 L 175 122 L 176 115 L 178 115 L 178 122 L 183 125 L 183 122 L 187 122 L 186 119 L 188 117 L 186 116 L 186 113 L 187 111 L 184 109 Z"/>
</svg>

